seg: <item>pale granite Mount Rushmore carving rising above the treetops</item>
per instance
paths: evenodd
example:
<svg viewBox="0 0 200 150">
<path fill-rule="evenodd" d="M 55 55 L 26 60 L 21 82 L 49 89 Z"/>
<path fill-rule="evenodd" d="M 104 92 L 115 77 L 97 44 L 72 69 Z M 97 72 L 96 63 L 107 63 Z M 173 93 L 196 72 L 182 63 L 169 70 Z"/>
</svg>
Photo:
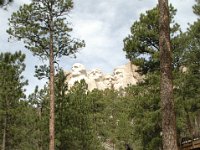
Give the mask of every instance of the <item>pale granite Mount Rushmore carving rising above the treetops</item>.
<svg viewBox="0 0 200 150">
<path fill-rule="evenodd" d="M 86 70 L 85 66 L 80 63 L 75 63 L 71 71 L 65 71 L 67 75 L 66 82 L 69 89 L 76 81 L 82 79 L 88 84 L 88 90 L 99 89 L 105 90 L 106 88 L 113 87 L 115 90 L 120 90 L 127 87 L 129 84 L 136 85 L 141 76 L 137 72 L 137 66 L 128 63 L 116 67 L 113 74 L 103 74 L 100 69 Z"/>
</svg>

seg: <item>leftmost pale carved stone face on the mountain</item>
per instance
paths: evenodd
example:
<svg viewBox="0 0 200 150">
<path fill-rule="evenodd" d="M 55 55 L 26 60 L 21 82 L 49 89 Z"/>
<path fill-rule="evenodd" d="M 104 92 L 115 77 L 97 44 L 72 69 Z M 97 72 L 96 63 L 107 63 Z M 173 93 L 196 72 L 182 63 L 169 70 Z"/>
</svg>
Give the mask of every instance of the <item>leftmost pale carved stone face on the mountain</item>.
<svg viewBox="0 0 200 150">
<path fill-rule="evenodd" d="M 76 77 L 76 76 L 85 75 L 85 74 L 86 74 L 86 69 L 84 65 L 80 63 L 75 63 L 72 66 L 72 76 Z"/>
</svg>

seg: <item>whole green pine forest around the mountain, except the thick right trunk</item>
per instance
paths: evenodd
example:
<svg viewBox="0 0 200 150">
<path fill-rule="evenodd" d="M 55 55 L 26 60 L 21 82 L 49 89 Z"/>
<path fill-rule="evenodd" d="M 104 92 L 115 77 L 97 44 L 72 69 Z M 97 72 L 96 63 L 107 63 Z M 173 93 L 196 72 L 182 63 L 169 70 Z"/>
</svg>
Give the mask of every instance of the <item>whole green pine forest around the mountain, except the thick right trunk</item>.
<svg viewBox="0 0 200 150">
<path fill-rule="evenodd" d="M 1 5 L 4 3 L 0 1 Z M 11 38 L 23 40 L 33 55 L 49 60 L 50 65 L 38 66 L 35 74 L 49 82 L 43 88 L 35 87 L 27 96 L 25 54 L 0 53 L 1 149 L 163 149 L 158 6 L 142 13 L 124 38 L 123 51 L 139 66 L 144 79 L 120 91 L 88 91 L 84 80 L 68 89 L 66 74 L 62 68 L 54 67 L 59 58 L 74 56 L 85 46 L 84 41 L 70 36 L 72 28 L 63 17 L 72 8 L 71 0 L 33 0 L 10 17 L 7 32 Z M 185 138 L 200 137 L 199 0 L 193 12 L 198 19 L 183 32 L 174 20 L 176 9 L 169 5 L 178 146 Z M 52 126 L 55 131 L 50 130 Z"/>
</svg>

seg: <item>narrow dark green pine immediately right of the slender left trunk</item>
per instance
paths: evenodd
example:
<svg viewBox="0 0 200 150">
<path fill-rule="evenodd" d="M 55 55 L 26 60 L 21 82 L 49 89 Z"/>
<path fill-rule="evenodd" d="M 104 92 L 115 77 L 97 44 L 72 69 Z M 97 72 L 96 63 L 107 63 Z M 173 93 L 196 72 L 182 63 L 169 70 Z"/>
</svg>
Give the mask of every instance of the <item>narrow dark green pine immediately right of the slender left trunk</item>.
<svg viewBox="0 0 200 150">
<path fill-rule="evenodd" d="M 71 113 L 68 109 L 69 106 L 69 96 L 67 95 L 68 86 L 66 84 L 66 75 L 63 70 L 60 70 L 56 75 L 55 80 L 55 114 L 56 114 L 56 149 L 62 150 L 66 149 L 70 145 L 70 133 L 66 130 L 70 130 L 69 122 L 71 120 Z"/>
</svg>

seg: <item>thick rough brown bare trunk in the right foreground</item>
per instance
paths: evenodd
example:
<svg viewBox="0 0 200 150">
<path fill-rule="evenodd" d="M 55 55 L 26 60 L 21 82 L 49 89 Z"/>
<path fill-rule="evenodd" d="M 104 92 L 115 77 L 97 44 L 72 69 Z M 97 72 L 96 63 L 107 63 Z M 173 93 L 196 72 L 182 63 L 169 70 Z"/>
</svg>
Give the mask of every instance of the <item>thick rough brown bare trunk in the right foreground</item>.
<svg viewBox="0 0 200 150">
<path fill-rule="evenodd" d="M 169 28 L 168 0 L 159 2 L 159 48 L 160 48 L 160 97 L 162 114 L 162 135 L 164 150 L 178 150 L 176 137 L 176 117 L 172 83 L 172 52 Z"/>
</svg>

